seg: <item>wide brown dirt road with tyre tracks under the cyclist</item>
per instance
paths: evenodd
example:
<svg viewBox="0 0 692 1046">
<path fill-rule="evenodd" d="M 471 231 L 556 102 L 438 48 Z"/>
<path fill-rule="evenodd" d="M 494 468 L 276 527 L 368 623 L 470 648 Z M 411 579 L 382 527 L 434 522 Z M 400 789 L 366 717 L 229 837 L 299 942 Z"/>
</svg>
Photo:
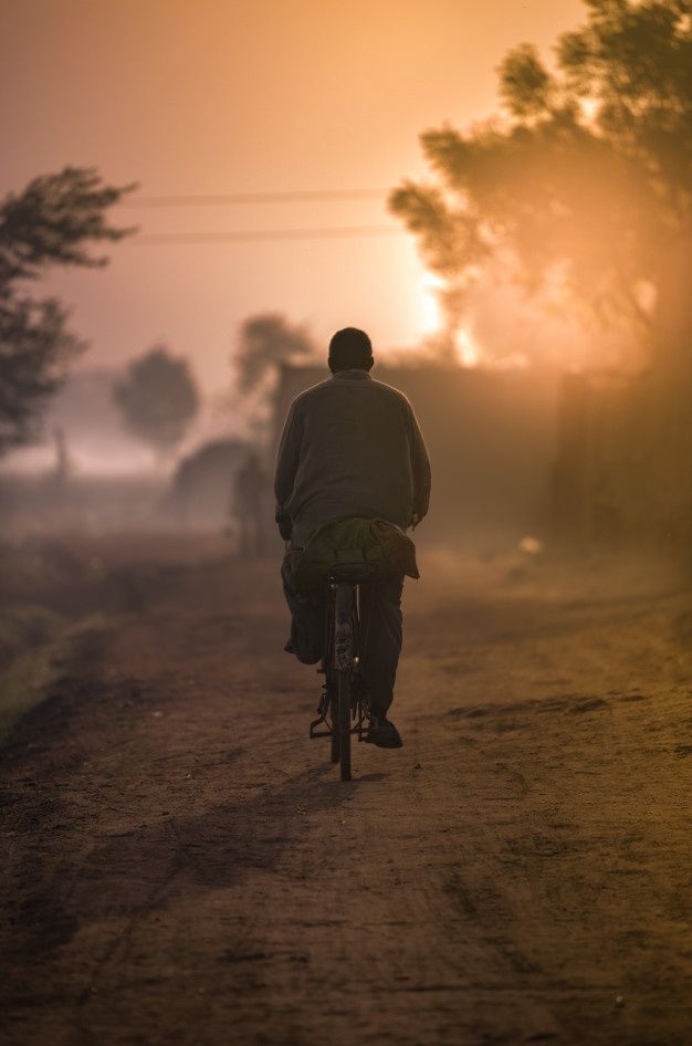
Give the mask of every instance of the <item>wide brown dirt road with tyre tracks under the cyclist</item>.
<svg viewBox="0 0 692 1046">
<path fill-rule="evenodd" d="M 186 555 L 2 754 L 3 1044 L 692 1043 L 689 594 L 429 556 L 342 784 L 274 565 Z"/>
</svg>

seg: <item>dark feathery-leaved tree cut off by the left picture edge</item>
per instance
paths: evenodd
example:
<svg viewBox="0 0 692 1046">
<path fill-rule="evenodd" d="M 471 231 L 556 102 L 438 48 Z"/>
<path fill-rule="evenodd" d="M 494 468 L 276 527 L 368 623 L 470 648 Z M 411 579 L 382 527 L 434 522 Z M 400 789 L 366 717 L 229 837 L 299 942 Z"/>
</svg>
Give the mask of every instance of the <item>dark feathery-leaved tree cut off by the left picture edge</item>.
<svg viewBox="0 0 692 1046">
<path fill-rule="evenodd" d="M 0 454 L 36 437 L 45 402 L 86 347 L 67 328 L 69 311 L 29 295 L 27 285 L 51 265 L 105 265 L 90 248 L 133 231 L 106 222 L 133 188 L 104 185 L 94 168 L 65 167 L 0 205 Z"/>
</svg>

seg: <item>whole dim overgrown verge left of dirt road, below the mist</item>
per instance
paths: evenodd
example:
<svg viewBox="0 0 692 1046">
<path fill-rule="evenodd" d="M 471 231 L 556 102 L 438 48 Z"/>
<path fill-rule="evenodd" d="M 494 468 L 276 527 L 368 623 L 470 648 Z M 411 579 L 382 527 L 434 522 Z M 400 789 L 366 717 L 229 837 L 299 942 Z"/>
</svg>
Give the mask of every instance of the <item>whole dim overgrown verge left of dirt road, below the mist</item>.
<svg viewBox="0 0 692 1046">
<path fill-rule="evenodd" d="M 66 671 L 91 670 L 93 637 L 172 593 L 197 562 L 196 541 L 188 553 L 169 533 L 0 533 L 0 745 L 22 715 L 65 689 Z"/>
</svg>

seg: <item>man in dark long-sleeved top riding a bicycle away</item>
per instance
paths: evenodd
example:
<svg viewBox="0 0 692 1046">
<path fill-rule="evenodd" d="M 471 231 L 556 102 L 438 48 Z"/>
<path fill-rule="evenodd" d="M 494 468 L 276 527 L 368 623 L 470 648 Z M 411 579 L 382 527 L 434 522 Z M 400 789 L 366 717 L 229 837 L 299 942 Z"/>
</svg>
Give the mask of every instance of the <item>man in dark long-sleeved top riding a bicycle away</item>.
<svg viewBox="0 0 692 1046">
<path fill-rule="evenodd" d="M 279 446 L 276 522 L 290 542 L 282 576 L 291 609 L 286 650 L 314 665 L 324 651 L 325 593 L 300 596 L 291 564 L 311 534 L 348 516 L 386 520 L 402 530 L 428 512 L 430 463 L 406 396 L 370 378 L 373 346 L 364 331 L 345 327 L 329 342 L 332 377 L 291 405 Z M 387 718 L 401 651 L 403 576 L 363 587 L 363 674 L 369 691 L 368 741 L 400 747 Z"/>
</svg>

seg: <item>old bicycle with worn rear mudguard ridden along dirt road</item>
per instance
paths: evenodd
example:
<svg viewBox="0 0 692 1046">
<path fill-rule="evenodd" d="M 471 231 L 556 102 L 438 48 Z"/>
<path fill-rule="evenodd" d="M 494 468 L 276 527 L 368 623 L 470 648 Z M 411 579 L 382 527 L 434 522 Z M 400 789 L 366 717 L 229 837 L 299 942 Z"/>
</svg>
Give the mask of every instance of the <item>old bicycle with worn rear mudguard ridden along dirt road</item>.
<svg viewBox="0 0 692 1046">
<path fill-rule="evenodd" d="M 327 582 L 326 642 L 322 662 L 325 676 L 318 716 L 310 724 L 311 738 L 331 739 L 331 759 L 339 764 L 342 781 L 350 781 L 350 741 L 367 740 L 370 708 L 363 677 L 360 583 L 363 577 L 332 574 Z M 319 730 L 325 725 L 326 730 Z"/>
</svg>

